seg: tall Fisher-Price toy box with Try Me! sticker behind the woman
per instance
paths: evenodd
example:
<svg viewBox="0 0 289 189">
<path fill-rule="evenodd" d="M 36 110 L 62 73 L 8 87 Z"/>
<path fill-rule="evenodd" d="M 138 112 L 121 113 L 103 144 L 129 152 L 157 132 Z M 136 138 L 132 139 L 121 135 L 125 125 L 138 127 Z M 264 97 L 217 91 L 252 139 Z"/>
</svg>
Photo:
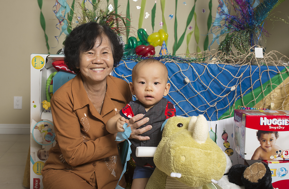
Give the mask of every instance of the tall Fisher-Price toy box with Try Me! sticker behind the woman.
<svg viewBox="0 0 289 189">
<path fill-rule="evenodd" d="M 43 188 L 41 170 L 47 152 L 55 145 L 50 103 L 46 101 L 57 86 L 59 88 L 75 74 L 56 72 L 53 67 L 52 63 L 64 60 L 64 55 L 31 54 L 30 58 L 30 188 L 39 189 Z M 51 85 L 54 80 L 55 85 Z"/>
</svg>

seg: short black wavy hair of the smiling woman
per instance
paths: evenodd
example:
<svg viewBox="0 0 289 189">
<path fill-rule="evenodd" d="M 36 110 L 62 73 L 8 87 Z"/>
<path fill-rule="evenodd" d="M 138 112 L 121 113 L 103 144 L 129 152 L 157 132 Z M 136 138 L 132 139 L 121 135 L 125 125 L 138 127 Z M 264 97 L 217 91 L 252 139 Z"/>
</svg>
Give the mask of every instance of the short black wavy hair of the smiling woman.
<svg viewBox="0 0 289 189">
<path fill-rule="evenodd" d="M 79 73 L 80 52 L 89 51 L 95 45 L 95 40 L 107 36 L 110 40 L 113 56 L 113 66 L 117 66 L 123 56 L 123 44 L 117 34 L 107 25 L 88 22 L 75 27 L 64 41 L 64 62 L 71 71 Z"/>
</svg>

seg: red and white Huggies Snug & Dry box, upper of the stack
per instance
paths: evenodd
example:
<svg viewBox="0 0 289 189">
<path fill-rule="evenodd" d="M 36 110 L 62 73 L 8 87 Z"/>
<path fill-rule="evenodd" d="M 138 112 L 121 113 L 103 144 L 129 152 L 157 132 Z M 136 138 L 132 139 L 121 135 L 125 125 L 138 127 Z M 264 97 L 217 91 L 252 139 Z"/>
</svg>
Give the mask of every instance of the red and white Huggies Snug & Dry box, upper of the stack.
<svg viewBox="0 0 289 189">
<path fill-rule="evenodd" d="M 257 131 L 277 131 L 260 135 Z M 279 135 L 279 137 L 278 137 Z M 266 137 L 265 137 L 266 136 Z M 276 139 L 277 136 L 277 139 Z M 269 138 L 268 138 L 269 137 Z M 262 143 L 262 145 L 261 145 Z M 266 144 L 267 143 L 267 144 Z M 233 149 L 245 160 L 289 158 L 289 110 L 234 110 Z M 276 150 L 277 149 L 277 150 Z M 261 155 L 257 155 L 261 154 Z M 258 157 L 255 157 L 255 156 Z"/>
</svg>

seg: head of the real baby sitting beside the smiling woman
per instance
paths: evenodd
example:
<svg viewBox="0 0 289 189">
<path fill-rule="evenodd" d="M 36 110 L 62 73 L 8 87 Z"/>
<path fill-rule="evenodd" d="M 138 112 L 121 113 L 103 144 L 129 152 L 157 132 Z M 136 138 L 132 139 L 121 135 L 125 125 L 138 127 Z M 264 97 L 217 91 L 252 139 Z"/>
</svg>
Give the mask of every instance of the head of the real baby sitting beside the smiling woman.
<svg viewBox="0 0 289 189">
<path fill-rule="evenodd" d="M 132 70 L 132 82 L 129 83 L 132 94 L 146 107 L 151 108 L 170 90 L 168 70 L 155 59 L 140 61 Z"/>
</svg>

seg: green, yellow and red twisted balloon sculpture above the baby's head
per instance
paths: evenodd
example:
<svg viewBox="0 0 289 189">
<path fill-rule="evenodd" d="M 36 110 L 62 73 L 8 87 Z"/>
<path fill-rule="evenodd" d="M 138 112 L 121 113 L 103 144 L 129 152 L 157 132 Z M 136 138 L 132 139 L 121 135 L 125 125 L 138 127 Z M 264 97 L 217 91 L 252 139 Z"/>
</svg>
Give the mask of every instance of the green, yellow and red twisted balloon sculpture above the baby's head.
<svg viewBox="0 0 289 189">
<path fill-rule="evenodd" d="M 162 46 L 163 41 L 168 39 L 168 34 L 163 29 L 160 29 L 158 32 L 148 35 L 144 29 L 140 28 L 138 29 L 138 38 L 140 39 L 139 41 L 132 36 L 128 38 L 128 44 L 125 44 L 123 55 L 155 55 L 154 47 Z M 168 54 L 167 51 L 164 54 Z"/>
</svg>

